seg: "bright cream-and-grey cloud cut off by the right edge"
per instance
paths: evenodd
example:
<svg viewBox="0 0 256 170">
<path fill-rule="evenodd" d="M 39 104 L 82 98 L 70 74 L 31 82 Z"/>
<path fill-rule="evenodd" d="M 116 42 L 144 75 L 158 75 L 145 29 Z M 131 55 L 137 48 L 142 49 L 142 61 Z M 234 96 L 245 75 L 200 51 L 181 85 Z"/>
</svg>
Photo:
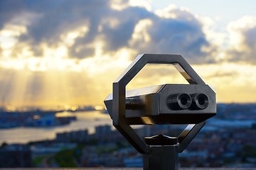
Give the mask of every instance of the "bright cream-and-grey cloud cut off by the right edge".
<svg viewBox="0 0 256 170">
<path fill-rule="evenodd" d="M 256 17 L 244 16 L 229 23 L 230 47 L 227 58 L 230 62 L 256 64 Z"/>
</svg>

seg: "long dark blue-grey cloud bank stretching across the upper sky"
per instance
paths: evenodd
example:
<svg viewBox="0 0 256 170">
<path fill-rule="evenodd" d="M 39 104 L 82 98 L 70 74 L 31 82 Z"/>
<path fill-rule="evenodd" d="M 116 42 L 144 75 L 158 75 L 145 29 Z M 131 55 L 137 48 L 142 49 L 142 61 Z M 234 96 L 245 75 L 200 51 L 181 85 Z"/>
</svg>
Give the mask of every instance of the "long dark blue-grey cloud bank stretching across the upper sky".
<svg viewBox="0 0 256 170">
<path fill-rule="evenodd" d="M 1 4 L 4 4 L 2 1 Z M 127 1 L 123 1 L 125 3 Z M 7 2 L 6 2 L 7 3 Z M 19 11 L 38 13 L 38 18 L 27 26 L 27 33 L 21 35 L 20 41 L 26 42 L 31 49 L 42 54 L 40 45 L 45 42 L 55 47 L 61 42 L 60 35 L 70 30 L 87 26 L 88 32 L 75 39 L 69 47 L 70 57 L 92 57 L 95 53 L 93 44 L 97 38 L 105 42 L 104 52 L 115 52 L 122 47 L 131 48 L 139 53 L 178 53 L 190 59 L 191 63 L 214 61 L 210 52 L 203 52 L 203 47 L 210 48 L 201 23 L 192 13 L 178 8 L 170 11 L 176 13 L 176 18 L 161 18 L 146 8 L 128 6 L 122 10 L 114 10 L 107 0 L 76 0 L 76 1 L 18 1 L 20 8 L 7 6 L 11 9 L 4 12 L 6 18 L 14 18 Z M 149 19 L 152 24 L 146 28 L 150 42 L 135 40 L 132 44 L 132 34 L 139 21 Z M 4 24 L 5 21 L 1 23 Z M 111 26 L 111 21 L 117 21 Z M 0 23 L 0 24 L 1 24 Z M 1 25 L 0 25 L 1 26 Z M 100 28 L 100 29 L 99 29 Z"/>
</svg>

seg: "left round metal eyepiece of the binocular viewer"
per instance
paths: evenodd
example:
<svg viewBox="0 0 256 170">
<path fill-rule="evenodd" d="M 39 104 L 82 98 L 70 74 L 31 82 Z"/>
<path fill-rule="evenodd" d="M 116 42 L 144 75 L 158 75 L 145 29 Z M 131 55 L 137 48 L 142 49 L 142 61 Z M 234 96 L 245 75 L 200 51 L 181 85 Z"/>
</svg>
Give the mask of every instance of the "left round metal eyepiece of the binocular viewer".
<svg viewBox="0 0 256 170">
<path fill-rule="evenodd" d="M 173 94 L 167 98 L 167 106 L 172 110 L 183 110 L 191 106 L 192 99 L 188 94 Z"/>
</svg>

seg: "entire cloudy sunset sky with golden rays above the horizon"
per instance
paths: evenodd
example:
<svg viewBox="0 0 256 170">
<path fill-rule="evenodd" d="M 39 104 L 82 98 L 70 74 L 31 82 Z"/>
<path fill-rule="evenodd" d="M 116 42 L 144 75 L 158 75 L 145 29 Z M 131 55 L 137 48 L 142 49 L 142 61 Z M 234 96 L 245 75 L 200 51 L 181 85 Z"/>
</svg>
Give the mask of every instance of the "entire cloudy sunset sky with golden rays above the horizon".
<svg viewBox="0 0 256 170">
<path fill-rule="evenodd" d="M 179 54 L 218 103 L 255 103 L 256 1 L 1 0 L 0 106 L 103 106 L 143 53 Z M 146 65 L 127 89 L 187 84 Z"/>
</svg>

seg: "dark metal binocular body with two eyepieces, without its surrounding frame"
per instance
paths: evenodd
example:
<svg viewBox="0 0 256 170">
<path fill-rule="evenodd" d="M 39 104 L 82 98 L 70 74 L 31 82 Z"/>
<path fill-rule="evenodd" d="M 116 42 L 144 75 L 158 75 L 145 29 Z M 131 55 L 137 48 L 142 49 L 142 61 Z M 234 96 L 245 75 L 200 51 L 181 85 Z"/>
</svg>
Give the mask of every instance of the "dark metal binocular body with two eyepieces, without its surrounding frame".
<svg viewBox="0 0 256 170">
<path fill-rule="evenodd" d="M 113 119 L 112 94 L 105 100 Z M 203 84 L 164 84 L 126 92 L 129 125 L 196 124 L 215 115 L 215 93 Z"/>
</svg>

